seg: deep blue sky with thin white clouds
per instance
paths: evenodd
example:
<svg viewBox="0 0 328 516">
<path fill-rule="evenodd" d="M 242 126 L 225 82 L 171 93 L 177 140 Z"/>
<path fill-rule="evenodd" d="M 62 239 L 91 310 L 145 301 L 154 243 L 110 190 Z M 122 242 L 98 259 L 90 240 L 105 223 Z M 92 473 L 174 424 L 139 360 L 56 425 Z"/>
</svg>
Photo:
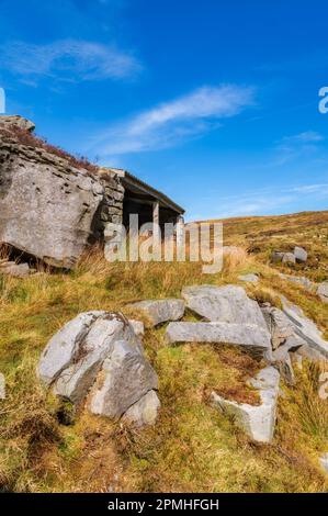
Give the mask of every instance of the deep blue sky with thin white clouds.
<svg viewBox="0 0 328 516">
<path fill-rule="evenodd" d="M 324 210 L 327 25 L 326 0 L 0 0 L 0 87 L 189 220 Z"/>
</svg>

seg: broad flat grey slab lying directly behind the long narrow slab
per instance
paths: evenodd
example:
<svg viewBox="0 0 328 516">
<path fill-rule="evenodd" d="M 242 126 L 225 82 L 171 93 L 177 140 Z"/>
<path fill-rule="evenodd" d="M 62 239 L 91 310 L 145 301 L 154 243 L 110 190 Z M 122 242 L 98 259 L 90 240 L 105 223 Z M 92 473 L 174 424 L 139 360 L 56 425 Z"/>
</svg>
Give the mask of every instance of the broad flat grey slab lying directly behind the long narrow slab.
<svg viewBox="0 0 328 516">
<path fill-rule="evenodd" d="M 185 305 L 211 322 L 256 325 L 267 329 L 258 303 L 248 298 L 242 287 L 184 287 Z"/>
</svg>

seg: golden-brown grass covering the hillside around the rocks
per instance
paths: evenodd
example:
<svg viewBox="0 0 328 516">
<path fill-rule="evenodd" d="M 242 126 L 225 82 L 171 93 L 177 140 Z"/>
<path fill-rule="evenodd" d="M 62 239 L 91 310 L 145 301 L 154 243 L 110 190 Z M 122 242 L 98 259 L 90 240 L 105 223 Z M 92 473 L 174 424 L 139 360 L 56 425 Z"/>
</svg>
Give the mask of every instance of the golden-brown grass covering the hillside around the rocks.
<svg viewBox="0 0 328 516">
<path fill-rule="evenodd" d="M 0 407 L 0 483 L 10 491 L 186 491 L 321 492 L 327 478 L 318 456 L 328 451 L 328 406 L 317 396 L 319 368 L 295 368 L 297 384 L 282 384 L 275 437 L 251 442 L 208 403 L 214 389 L 256 402 L 246 386 L 260 363 L 225 346 L 168 347 L 165 327 L 146 332 L 145 350 L 159 375 L 161 412 L 157 425 L 135 430 L 122 423 L 59 406 L 35 378 L 49 337 L 79 312 L 122 310 L 147 298 L 179 296 L 193 283 L 238 283 L 258 272 L 259 285 L 245 285 L 259 301 L 279 304 L 283 293 L 327 332 L 328 305 L 279 271 L 328 278 L 328 212 L 225 222 L 225 244 L 241 245 L 224 270 L 203 276 L 197 263 L 108 263 L 99 250 L 70 273 L 44 271 L 24 280 L 0 276 L 0 371 L 8 397 Z M 269 263 L 271 249 L 304 245 L 305 266 Z M 239 284 L 241 284 L 239 282 Z M 188 316 L 193 318 L 191 314 Z M 65 416 L 65 417 L 64 417 Z M 71 419 L 69 425 L 59 420 Z"/>
</svg>

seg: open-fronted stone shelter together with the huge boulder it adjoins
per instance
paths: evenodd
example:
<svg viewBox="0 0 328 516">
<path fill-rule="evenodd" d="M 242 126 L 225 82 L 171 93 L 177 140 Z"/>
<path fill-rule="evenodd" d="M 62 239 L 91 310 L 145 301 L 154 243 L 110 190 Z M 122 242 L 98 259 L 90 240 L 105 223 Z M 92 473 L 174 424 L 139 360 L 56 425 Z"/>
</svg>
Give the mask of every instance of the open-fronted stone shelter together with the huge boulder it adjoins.
<svg viewBox="0 0 328 516">
<path fill-rule="evenodd" d="M 71 268 L 108 223 L 129 214 L 176 222 L 184 210 L 138 178 L 99 168 L 36 138 L 34 124 L 0 116 L 0 244 L 55 267 Z"/>
</svg>

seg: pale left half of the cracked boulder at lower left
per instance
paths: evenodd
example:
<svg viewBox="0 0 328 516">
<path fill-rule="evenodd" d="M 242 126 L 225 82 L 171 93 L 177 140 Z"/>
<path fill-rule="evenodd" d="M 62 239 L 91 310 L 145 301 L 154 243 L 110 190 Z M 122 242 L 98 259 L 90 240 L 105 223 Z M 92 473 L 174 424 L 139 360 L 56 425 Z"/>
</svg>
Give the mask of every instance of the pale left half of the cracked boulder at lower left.
<svg viewBox="0 0 328 516">
<path fill-rule="evenodd" d="M 140 352 L 142 345 L 122 314 L 82 313 L 49 340 L 38 363 L 38 377 L 56 394 L 80 403 L 115 341 L 123 338 Z"/>
</svg>

